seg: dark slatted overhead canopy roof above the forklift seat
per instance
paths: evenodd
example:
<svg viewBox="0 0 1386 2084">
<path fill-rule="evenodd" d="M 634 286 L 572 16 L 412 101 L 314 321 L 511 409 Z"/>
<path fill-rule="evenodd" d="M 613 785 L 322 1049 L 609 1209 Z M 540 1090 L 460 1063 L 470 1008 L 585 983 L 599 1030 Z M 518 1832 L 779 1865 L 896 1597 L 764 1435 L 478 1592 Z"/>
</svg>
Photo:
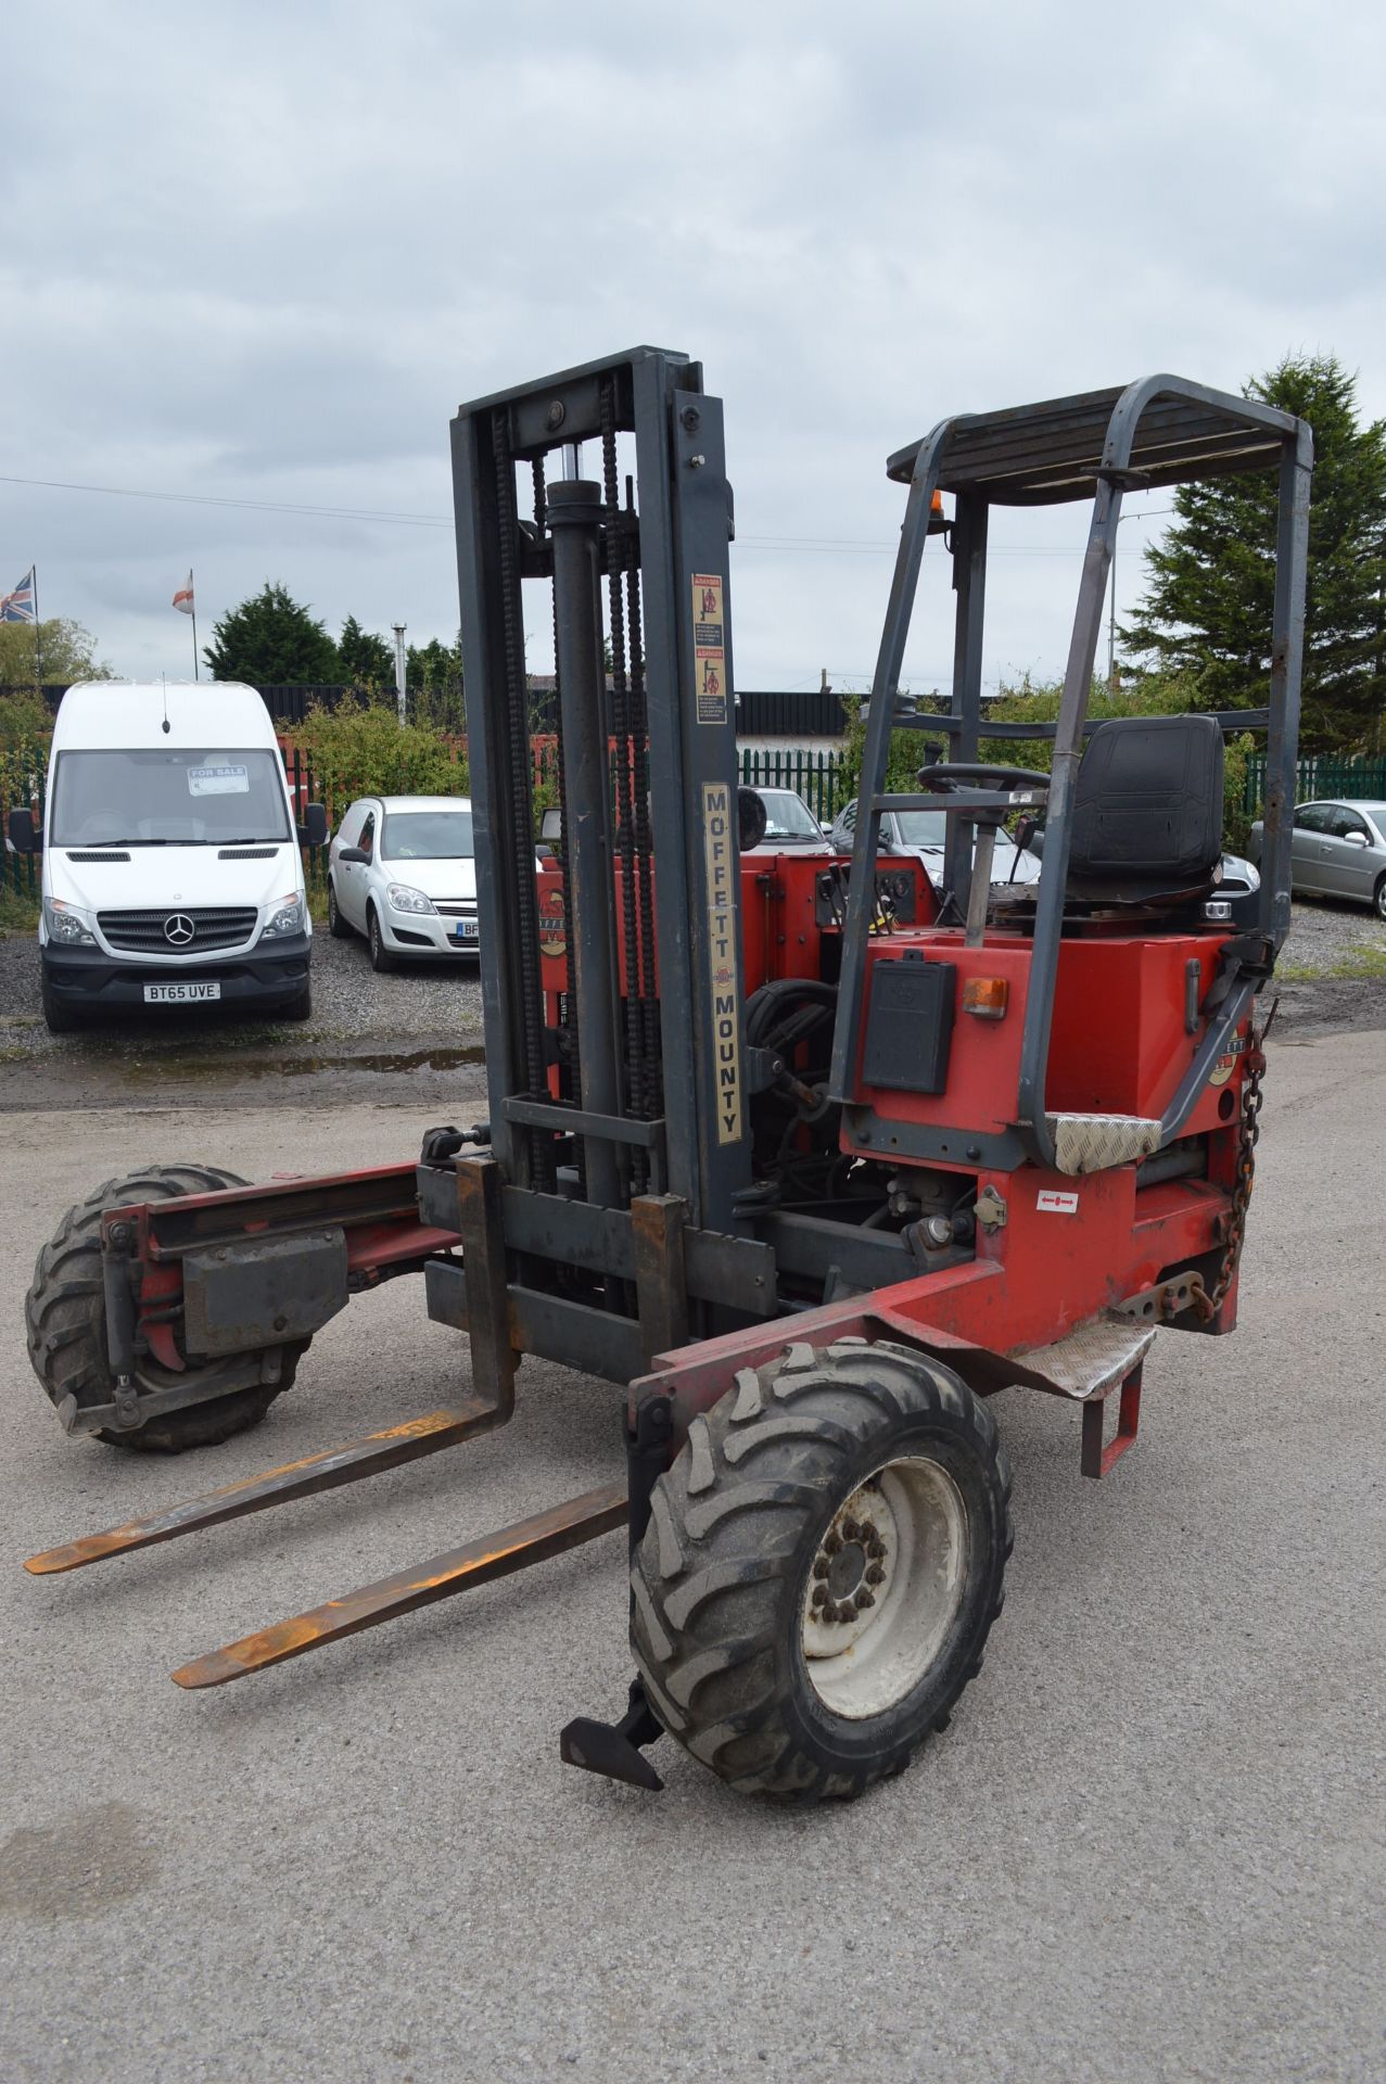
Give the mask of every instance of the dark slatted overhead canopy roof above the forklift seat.
<svg viewBox="0 0 1386 2084">
<path fill-rule="evenodd" d="M 1178 392 L 1157 388 L 1140 415 L 1125 490 L 1271 469 L 1296 429 L 1288 413 L 1253 398 L 1232 398 L 1180 377 L 1153 381 L 1178 386 Z M 1092 498 L 1111 417 L 1123 396 L 1125 386 L 1119 386 L 955 419 L 938 483 L 944 492 L 980 492 L 998 506 Z M 921 446 L 911 442 L 896 450 L 886 473 L 909 483 Z"/>
</svg>

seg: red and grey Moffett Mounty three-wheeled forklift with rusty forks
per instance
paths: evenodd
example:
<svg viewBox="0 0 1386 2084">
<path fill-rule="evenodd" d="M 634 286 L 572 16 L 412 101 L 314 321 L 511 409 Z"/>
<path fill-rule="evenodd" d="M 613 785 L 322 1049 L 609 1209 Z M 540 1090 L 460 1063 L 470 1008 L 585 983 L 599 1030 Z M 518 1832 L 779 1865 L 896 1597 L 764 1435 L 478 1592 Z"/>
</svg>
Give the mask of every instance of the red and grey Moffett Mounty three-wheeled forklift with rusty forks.
<svg viewBox="0 0 1386 2084">
<path fill-rule="evenodd" d="M 598 479 L 571 473 L 581 444 Z M 452 454 L 490 1119 L 369 1173 L 110 1182 L 40 1257 L 29 1346 L 69 1432 L 206 1442 L 263 1415 L 352 1294 L 421 1271 L 429 1317 L 469 1334 L 467 1388 L 27 1567 L 448 1448 L 502 1425 L 519 1357 L 546 1355 L 619 1386 L 623 1480 L 175 1680 L 242 1678 L 629 1519 L 638 1678 L 619 1719 L 569 1723 L 563 1757 L 659 1786 L 667 1732 L 736 1788 L 855 1796 L 948 1721 L 1000 1613 L 992 1392 L 1075 1400 L 1100 1478 L 1136 1436 L 1157 1328 L 1236 1321 L 1253 1004 L 1290 915 L 1309 429 L 1161 375 L 944 419 L 894 454 L 909 494 L 850 861 L 740 829 L 732 502 L 700 367 L 638 348 L 481 398 Z M 1269 711 L 1088 725 L 1123 492 L 1255 469 L 1280 471 Z M 990 508 L 1080 498 L 1053 767 L 980 763 Z M 957 594 L 944 715 L 898 696 L 930 538 Z M 561 700 L 538 877 L 534 581 Z M 1265 854 L 1242 927 L 1217 896 L 1223 725 L 1255 721 Z M 917 794 L 884 792 L 894 729 L 919 731 Z M 948 817 L 940 888 L 877 863 L 882 813 L 915 807 Z M 1040 879 L 992 886 L 1017 813 L 1044 813 Z"/>
</svg>

